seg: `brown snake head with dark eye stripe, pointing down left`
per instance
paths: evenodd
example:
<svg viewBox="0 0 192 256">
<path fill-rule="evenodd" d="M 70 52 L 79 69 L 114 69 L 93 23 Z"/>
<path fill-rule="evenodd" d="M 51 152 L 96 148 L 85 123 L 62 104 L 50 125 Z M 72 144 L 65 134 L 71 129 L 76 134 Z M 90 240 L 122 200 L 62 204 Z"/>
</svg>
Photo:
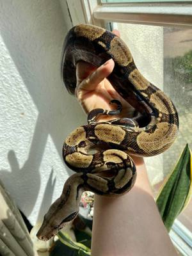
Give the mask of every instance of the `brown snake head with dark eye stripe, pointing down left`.
<svg viewBox="0 0 192 256">
<path fill-rule="evenodd" d="M 67 209 L 67 207 L 63 208 L 61 205 L 63 202 L 60 198 L 51 205 L 49 211 L 44 216 L 44 221 L 40 230 L 36 236 L 40 240 L 47 241 L 51 239 L 52 236 L 55 236 L 59 230 L 68 223 L 70 223 L 74 218 L 76 218 L 78 211 L 63 211 L 63 209 Z"/>
</svg>

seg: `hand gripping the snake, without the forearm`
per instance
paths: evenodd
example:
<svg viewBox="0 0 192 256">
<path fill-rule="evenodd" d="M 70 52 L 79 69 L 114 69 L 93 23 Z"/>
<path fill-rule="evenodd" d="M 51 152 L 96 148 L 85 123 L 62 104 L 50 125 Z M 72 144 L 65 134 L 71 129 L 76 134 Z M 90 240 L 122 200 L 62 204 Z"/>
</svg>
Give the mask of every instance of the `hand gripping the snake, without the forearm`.
<svg viewBox="0 0 192 256">
<path fill-rule="evenodd" d="M 118 31 L 113 31 L 117 36 L 120 36 Z M 79 61 L 76 68 L 77 88 L 76 97 L 88 114 L 92 109 L 114 109 L 114 104 L 109 104 L 111 100 L 119 100 L 122 104 L 122 112 L 118 117 L 132 116 L 133 108 L 124 100 L 109 83 L 106 77 L 111 74 L 114 68 L 114 61 L 108 60 L 99 68 L 94 67 L 90 63 Z M 113 116 L 114 118 L 114 116 Z M 99 118 L 98 118 L 99 119 Z M 101 116 L 99 120 L 110 120 L 111 116 Z"/>
</svg>

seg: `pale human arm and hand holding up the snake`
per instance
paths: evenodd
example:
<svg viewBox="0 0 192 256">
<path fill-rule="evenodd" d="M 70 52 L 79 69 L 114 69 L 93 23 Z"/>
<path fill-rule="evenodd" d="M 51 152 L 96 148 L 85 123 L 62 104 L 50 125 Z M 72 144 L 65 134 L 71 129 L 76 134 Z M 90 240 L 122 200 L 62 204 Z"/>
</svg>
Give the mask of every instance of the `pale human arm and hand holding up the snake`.
<svg viewBox="0 0 192 256">
<path fill-rule="evenodd" d="M 113 60 L 97 69 L 77 63 L 76 97 L 86 113 L 95 108 L 111 109 L 109 102 L 118 99 L 123 106 L 119 116 L 131 114 L 129 104 L 105 78 L 113 67 Z M 102 120 L 107 118 L 111 117 L 102 116 Z M 95 195 L 92 256 L 177 255 L 157 210 L 144 161 L 134 157 L 134 162 L 138 177 L 129 193 L 118 198 Z"/>
</svg>

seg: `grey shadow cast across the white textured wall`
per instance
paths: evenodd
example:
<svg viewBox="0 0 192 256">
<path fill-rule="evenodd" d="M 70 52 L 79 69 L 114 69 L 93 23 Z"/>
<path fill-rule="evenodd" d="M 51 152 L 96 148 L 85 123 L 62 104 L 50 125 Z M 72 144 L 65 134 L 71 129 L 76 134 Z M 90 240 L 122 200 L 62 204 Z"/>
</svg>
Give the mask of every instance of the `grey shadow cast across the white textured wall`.
<svg viewBox="0 0 192 256">
<path fill-rule="evenodd" d="M 31 131 L 34 133 L 28 159 L 20 167 L 15 152 L 10 148 L 8 161 L 11 172 L 0 171 L 0 177 L 8 188 L 19 180 L 17 189 L 21 193 L 25 191 L 22 193 L 22 211 L 29 216 L 40 190 L 39 168 L 48 136 L 51 136 L 61 157 L 63 139 L 77 127 L 78 122 L 82 122 L 82 111 L 76 99 L 68 97 L 61 82 L 61 49 L 68 28 L 59 1 L 18 0 L 17 4 L 3 1 L 0 13 L 4 44 L 38 109 L 35 131 Z M 70 115 L 71 111 L 73 115 Z M 46 206 L 51 204 L 55 184 L 55 180 L 50 184 L 51 179 L 52 172 L 47 183 L 49 189 L 45 189 L 44 200 L 49 202 Z M 13 194 L 14 191 L 10 191 Z"/>
</svg>

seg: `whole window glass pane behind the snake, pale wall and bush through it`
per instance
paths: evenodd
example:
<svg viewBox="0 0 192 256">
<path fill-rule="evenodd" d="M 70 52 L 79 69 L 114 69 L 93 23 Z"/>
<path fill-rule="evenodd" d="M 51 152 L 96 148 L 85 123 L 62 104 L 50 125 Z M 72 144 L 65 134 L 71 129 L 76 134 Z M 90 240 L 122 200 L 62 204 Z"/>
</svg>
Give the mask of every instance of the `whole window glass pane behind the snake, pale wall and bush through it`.
<svg viewBox="0 0 192 256">
<path fill-rule="evenodd" d="M 173 146 L 159 156 L 145 158 L 157 195 L 186 143 L 192 149 L 192 29 L 120 23 L 114 26 L 131 50 L 141 74 L 170 96 L 179 113 L 179 136 Z M 192 232 L 191 212 L 192 200 L 179 220 Z"/>
</svg>

